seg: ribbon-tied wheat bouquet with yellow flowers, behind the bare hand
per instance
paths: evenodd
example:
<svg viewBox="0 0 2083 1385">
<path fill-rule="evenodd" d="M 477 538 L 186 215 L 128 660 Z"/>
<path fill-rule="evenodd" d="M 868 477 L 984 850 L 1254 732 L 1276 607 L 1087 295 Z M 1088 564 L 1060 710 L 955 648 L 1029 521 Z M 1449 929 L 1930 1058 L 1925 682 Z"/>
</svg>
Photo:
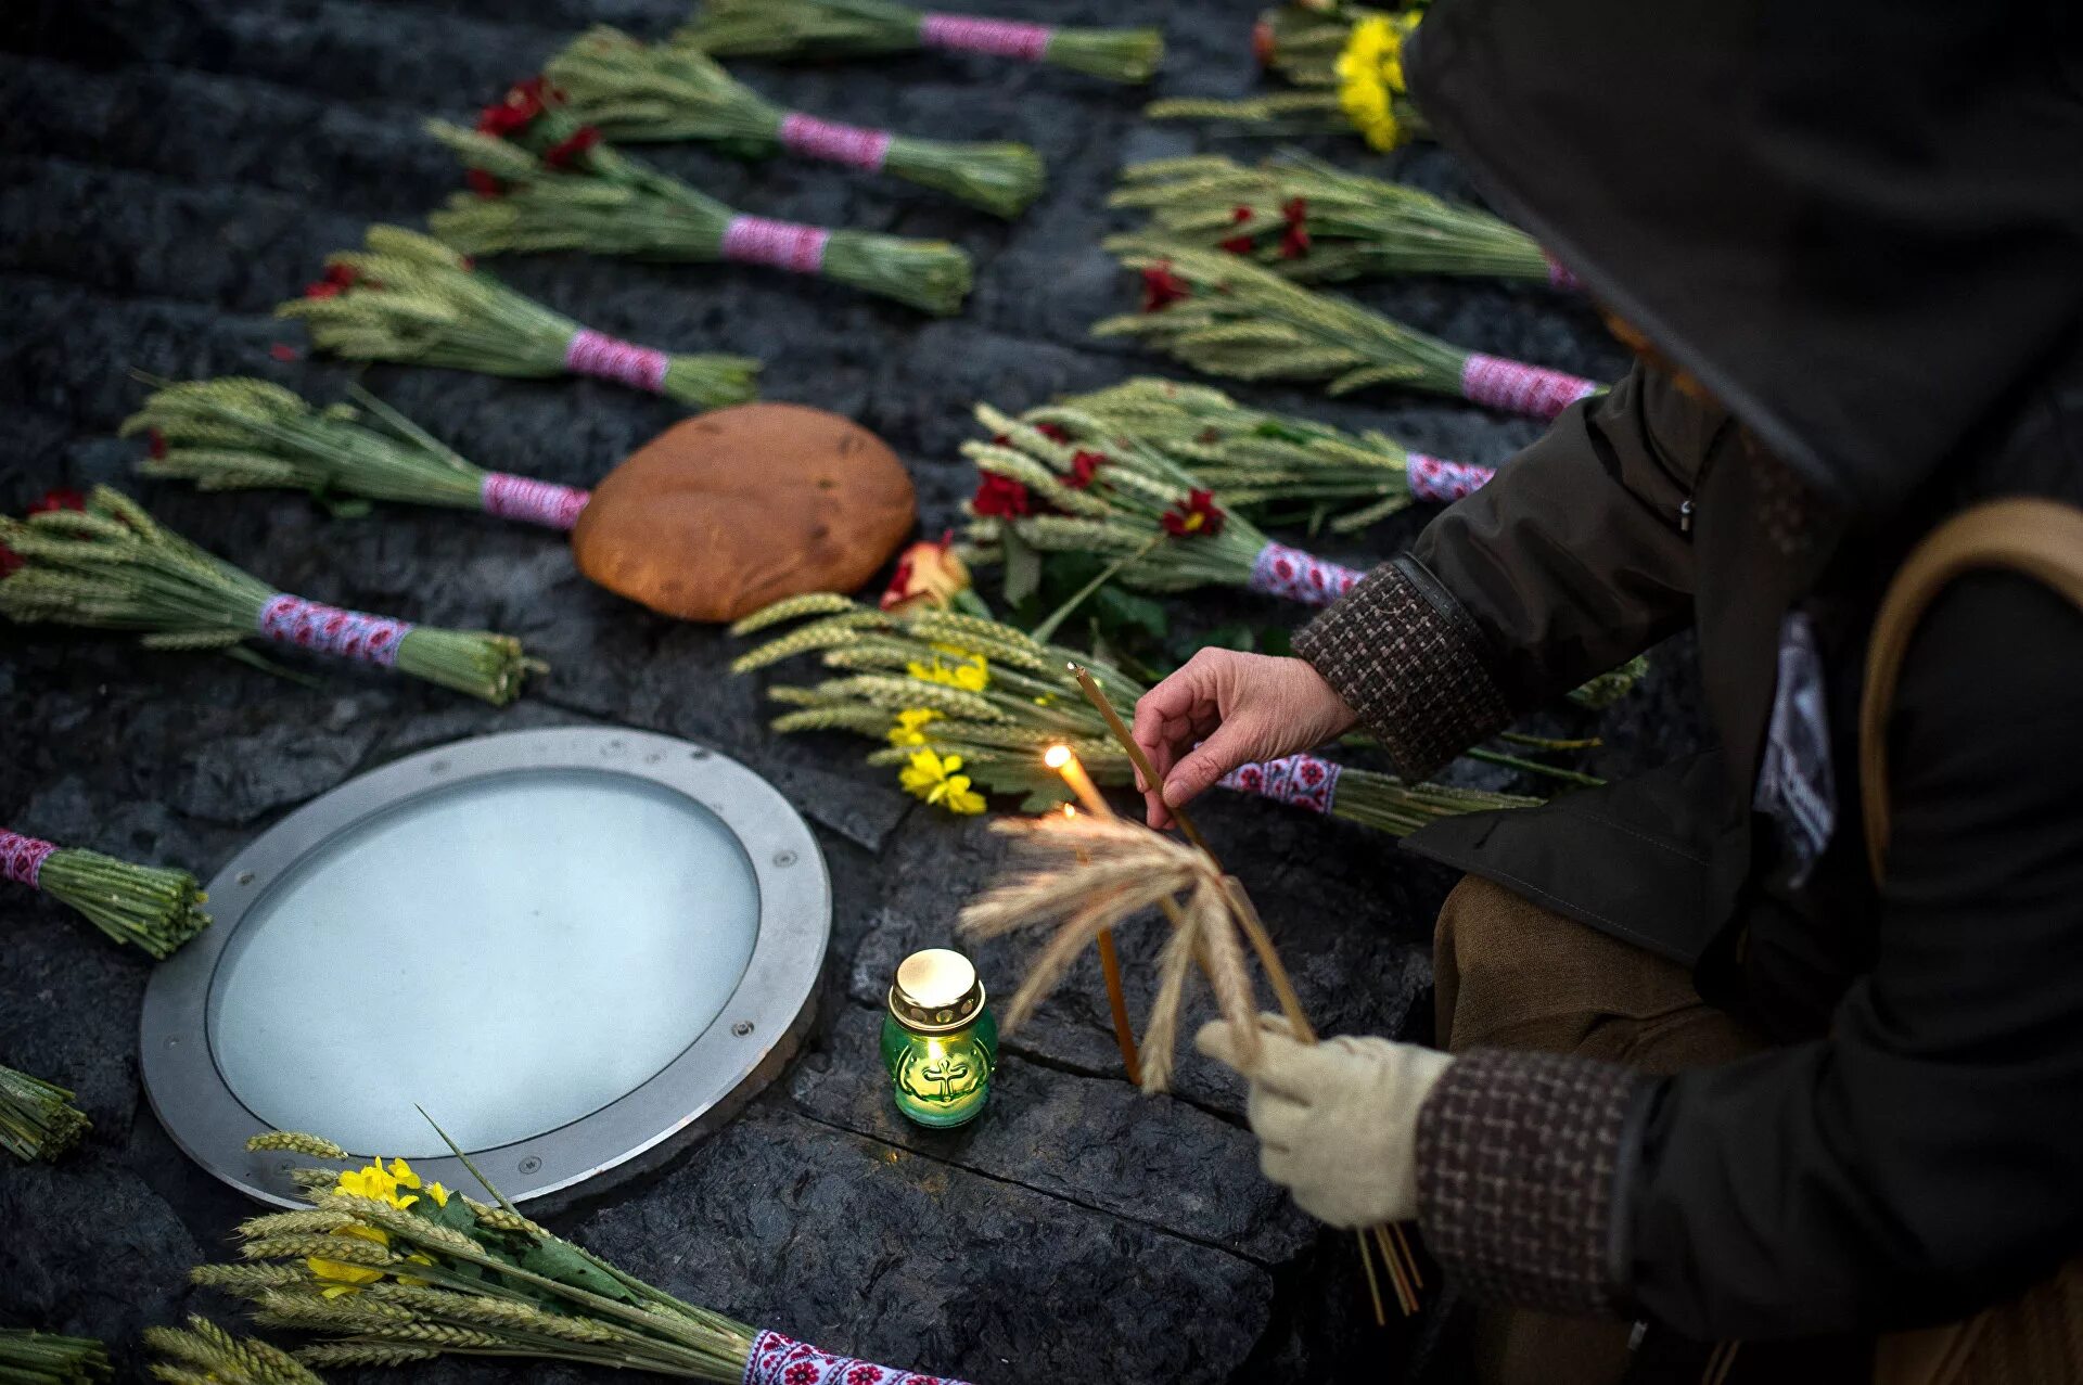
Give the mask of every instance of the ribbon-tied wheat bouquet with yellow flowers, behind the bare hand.
<svg viewBox="0 0 2083 1385">
<path fill-rule="evenodd" d="M 1062 777 L 1044 760 L 1069 748 L 1098 783 L 1127 785 L 1133 766 L 1106 721 L 1083 698 L 1071 662 L 1108 696 L 1133 702 L 1141 685 L 1119 669 L 1035 639 L 1002 621 L 952 610 L 885 612 L 844 596 L 798 596 L 746 616 L 731 633 L 752 635 L 806 621 L 771 637 L 731 664 L 754 673 L 817 654 L 833 677 L 812 685 L 773 685 L 767 696 L 792 710 L 775 731 L 848 731 L 883 741 L 871 764 L 898 771 L 904 789 L 954 814 L 985 810 L 977 785 L 1025 796 L 1023 808 L 1066 802 Z M 1223 787 L 1344 819 L 1389 833 L 1485 808 L 1539 800 L 1350 769 L 1316 756 L 1246 764 Z"/>
</svg>

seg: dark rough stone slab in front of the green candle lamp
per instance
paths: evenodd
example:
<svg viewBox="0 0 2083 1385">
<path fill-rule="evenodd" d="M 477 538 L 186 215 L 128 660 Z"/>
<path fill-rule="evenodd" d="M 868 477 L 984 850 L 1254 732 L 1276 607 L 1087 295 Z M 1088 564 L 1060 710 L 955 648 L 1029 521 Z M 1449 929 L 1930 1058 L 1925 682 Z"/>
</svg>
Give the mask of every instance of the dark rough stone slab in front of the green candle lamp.
<svg viewBox="0 0 2083 1385">
<path fill-rule="evenodd" d="M 573 1235 L 760 1327 L 979 1383 L 1227 1379 L 1273 1289 L 1225 1250 L 771 1102 Z"/>
</svg>

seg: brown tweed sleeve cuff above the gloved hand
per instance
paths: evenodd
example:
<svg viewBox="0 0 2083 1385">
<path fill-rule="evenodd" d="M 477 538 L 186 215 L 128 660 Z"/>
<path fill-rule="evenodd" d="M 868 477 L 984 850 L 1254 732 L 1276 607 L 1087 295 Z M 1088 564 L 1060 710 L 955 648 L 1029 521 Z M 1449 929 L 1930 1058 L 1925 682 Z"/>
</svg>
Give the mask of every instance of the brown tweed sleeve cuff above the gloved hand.
<svg viewBox="0 0 2083 1385">
<path fill-rule="evenodd" d="M 1483 1300 L 1618 1312 L 1616 1170 L 1648 1081 L 1560 1054 L 1456 1058 L 1419 1110 L 1419 1227 L 1439 1264 Z"/>
</svg>

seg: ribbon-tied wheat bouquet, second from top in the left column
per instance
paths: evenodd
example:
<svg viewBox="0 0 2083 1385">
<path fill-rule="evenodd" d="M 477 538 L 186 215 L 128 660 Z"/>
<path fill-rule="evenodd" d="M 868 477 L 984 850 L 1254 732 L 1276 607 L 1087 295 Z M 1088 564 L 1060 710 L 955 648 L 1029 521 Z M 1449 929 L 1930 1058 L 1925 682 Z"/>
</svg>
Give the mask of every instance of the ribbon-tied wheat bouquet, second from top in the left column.
<svg viewBox="0 0 2083 1385">
<path fill-rule="evenodd" d="M 606 140 L 706 140 L 742 158 L 787 150 L 802 158 L 889 173 L 998 217 L 1042 196 L 1042 156 L 1025 144 L 914 140 L 787 110 L 689 46 L 639 44 L 596 27 L 550 58 L 544 77 L 573 119 Z"/>
</svg>

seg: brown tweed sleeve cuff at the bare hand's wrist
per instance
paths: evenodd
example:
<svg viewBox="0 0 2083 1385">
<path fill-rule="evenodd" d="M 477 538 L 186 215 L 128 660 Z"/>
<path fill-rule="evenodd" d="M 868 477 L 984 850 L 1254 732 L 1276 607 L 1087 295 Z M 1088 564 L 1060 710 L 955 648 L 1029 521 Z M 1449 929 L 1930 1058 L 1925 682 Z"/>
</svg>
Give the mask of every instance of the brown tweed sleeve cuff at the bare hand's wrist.
<svg viewBox="0 0 2083 1385">
<path fill-rule="evenodd" d="M 1481 633 L 1410 558 L 1369 573 L 1302 627 L 1294 648 L 1412 779 L 1512 719 L 1483 664 Z"/>
</svg>

